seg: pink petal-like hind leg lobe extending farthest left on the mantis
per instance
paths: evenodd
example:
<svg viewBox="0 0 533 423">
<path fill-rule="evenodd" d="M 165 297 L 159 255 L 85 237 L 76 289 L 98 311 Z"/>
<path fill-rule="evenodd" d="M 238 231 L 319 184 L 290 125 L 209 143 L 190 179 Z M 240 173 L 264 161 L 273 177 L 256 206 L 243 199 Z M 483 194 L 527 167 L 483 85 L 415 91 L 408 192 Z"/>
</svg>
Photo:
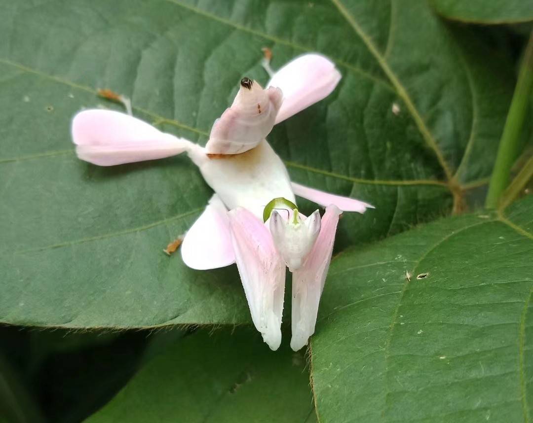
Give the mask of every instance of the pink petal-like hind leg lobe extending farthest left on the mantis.
<svg viewBox="0 0 533 423">
<path fill-rule="evenodd" d="M 72 120 L 71 130 L 78 157 L 100 166 L 175 156 L 194 145 L 112 110 L 79 112 Z"/>
</svg>

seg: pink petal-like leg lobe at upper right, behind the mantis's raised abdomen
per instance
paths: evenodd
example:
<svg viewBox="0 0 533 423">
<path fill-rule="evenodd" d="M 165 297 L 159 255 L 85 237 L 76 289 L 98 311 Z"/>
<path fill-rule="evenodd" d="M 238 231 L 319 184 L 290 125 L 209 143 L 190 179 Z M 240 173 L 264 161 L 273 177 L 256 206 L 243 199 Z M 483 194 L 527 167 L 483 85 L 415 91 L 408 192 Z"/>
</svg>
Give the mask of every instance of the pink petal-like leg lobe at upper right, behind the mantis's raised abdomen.
<svg viewBox="0 0 533 423">
<path fill-rule="evenodd" d="M 321 54 L 303 54 L 287 63 L 266 84 L 280 88 L 283 93 L 276 123 L 324 99 L 340 80 L 341 73 L 335 64 Z"/>
</svg>

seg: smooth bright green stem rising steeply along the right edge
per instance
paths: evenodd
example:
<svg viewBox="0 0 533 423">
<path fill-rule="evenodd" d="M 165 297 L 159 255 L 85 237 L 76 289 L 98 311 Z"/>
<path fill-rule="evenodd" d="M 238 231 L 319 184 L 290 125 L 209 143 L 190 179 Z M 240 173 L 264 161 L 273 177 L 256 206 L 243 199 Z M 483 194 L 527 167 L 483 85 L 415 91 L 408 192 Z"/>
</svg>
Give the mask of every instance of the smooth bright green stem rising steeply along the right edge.
<svg viewBox="0 0 533 423">
<path fill-rule="evenodd" d="M 526 52 L 520 66 L 518 82 L 514 89 L 511 107 L 507 114 L 507 120 L 503 128 L 498 155 L 492 176 L 490 177 L 489 192 L 485 206 L 496 208 L 502 192 L 507 188 L 511 167 L 518 152 L 520 133 L 526 118 L 529 96 L 533 88 L 533 31 L 529 37 Z"/>
</svg>

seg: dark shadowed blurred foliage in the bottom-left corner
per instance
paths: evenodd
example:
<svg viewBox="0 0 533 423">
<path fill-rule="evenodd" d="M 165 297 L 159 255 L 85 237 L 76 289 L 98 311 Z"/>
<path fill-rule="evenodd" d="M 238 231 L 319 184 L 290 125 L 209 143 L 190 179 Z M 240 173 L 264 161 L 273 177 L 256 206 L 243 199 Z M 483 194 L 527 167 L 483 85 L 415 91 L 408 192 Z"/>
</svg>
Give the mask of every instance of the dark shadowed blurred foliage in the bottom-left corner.
<svg viewBox="0 0 533 423">
<path fill-rule="evenodd" d="M 82 421 L 185 333 L 0 327 L 0 416 L 9 423 Z"/>
</svg>

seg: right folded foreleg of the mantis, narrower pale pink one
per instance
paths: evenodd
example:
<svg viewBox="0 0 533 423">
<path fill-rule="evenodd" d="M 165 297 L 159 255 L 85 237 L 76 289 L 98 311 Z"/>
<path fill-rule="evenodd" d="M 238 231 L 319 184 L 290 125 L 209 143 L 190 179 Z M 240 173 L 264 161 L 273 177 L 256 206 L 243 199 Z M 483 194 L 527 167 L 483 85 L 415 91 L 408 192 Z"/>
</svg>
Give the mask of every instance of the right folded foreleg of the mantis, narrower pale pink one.
<svg viewBox="0 0 533 423">
<path fill-rule="evenodd" d="M 307 345 L 317 322 L 318 304 L 332 258 L 333 241 L 341 214 L 336 206 L 330 205 L 322 216 L 322 227 L 314 247 L 304 265 L 293 273 L 293 307 L 290 347 L 294 351 Z"/>
</svg>

